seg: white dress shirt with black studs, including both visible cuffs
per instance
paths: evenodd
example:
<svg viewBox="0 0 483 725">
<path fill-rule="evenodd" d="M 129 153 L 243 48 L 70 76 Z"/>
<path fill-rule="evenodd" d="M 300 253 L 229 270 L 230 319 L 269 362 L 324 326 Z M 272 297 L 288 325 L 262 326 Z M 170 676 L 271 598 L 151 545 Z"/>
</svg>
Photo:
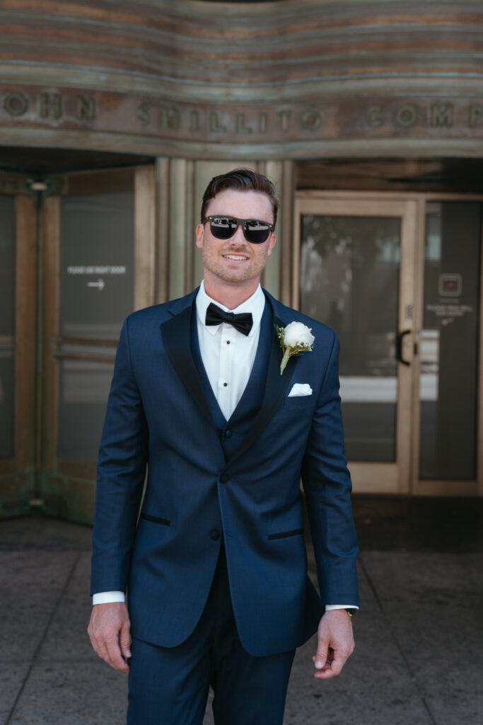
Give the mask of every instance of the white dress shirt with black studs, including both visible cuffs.
<svg viewBox="0 0 483 725">
<path fill-rule="evenodd" d="M 228 323 L 207 326 L 205 324 L 206 310 L 211 302 L 225 312 L 235 312 L 236 315 L 240 312 L 251 312 L 253 326 L 249 334 L 243 335 Z M 251 297 L 245 299 L 245 302 L 235 307 L 234 310 L 211 299 L 206 294 L 203 281 L 196 296 L 196 326 L 201 360 L 203 360 L 211 389 L 227 421 L 230 420 L 240 402 L 251 375 L 256 349 L 259 345 L 260 323 L 265 304 L 265 295 L 260 285 Z M 93 605 L 107 604 L 124 602 L 124 600 L 124 592 L 99 592 L 93 595 L 92 603 Z M 326 610 L 343 608 L 345 605 L 326 606 Z"/>
</svg>

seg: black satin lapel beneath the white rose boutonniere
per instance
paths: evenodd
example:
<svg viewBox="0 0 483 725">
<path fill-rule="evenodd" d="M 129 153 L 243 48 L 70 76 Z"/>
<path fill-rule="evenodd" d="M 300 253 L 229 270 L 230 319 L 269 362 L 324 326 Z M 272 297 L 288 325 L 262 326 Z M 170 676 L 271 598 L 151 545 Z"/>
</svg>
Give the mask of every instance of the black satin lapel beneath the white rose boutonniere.
<svg viewBox="0 0 483 725">
<path fill-rule="evenodd" d="M 274 326 L 283 327 L 283 323 L 277 318 L 273 318 Z M 280 375 L 280 363 L 282 362 L 282 349 L 277 339 L 275 328 L 273 329 L 272 335 L 272 349 L 270 351 L 270 359 L 268 365 L 268 371 L 266 374 L 266 388 L 264 399 L 261 404 L 260 410 L 256 415 L 251 427 L 248 428 L 243 441 L 238 446 L 235 453 L 232 455 L 228 464 L 233 463 L 235 458 L 239 458 L 243 455 L 246 450 L 256 441 L 261 431 L 266 428 L 268 423 L 272 420 L 277 408 L 282 401 L 282 398 L 287 392 L 287 388 L 292 378 L 293 366 L 295 365 L 295 358 L 291 357 L 288 361 L 287 368 L 285 368 L 283 375 Z"/>
</svg>

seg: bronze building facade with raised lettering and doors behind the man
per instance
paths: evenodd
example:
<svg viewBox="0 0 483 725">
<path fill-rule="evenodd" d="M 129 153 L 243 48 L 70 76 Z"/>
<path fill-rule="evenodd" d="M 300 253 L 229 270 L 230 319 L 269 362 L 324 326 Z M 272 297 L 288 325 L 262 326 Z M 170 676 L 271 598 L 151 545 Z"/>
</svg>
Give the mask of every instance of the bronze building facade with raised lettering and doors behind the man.
<svg viewBox="0 0 483 725">
<path fill-rule="evenodd" d="M 354 492 L 483 494 L 479 1 L 9 0 L 0 38 L 0 515 L 91 521 L 122 320 L 199 283 L 235 166 L 264 286 L 340 337 Z"/>
</svg>

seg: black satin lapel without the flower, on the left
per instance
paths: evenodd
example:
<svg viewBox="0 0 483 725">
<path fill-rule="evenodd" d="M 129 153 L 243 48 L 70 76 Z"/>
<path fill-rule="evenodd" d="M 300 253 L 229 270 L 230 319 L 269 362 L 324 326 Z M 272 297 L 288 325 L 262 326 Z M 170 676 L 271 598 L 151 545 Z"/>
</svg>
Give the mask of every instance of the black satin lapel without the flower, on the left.
<svg viewBox="0 0 483 725">
<path fill-rule="evenodd" d="M 213 418 L 191 352 L 191 305 L 161 325 L 164 347 L 182 384 L 212 426 Z"/>
</svg>

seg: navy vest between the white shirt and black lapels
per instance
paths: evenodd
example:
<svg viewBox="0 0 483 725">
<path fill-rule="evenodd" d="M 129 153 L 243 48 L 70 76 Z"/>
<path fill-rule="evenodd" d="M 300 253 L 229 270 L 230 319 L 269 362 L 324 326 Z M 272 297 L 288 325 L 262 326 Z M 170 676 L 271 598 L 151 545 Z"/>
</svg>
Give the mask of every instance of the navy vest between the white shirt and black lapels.
<svg viewBox="0 0 483 725">
<path fill-rule="evenodd" d="M 243 441 L 245 435 L 248 433 L 248 428 L 250 428 L 253 422 L 253 418 L 255 418 L 261 407 L 265 392 L 266 371 L 269 364 L 270 350 L 272 348 L 272 335 L 274 334 L 272 309 L 269 303 L 265 302 L 264 313 L 261 316 L 260 323 L 259 345 L 256 350 L 251 375 L 237 407 L 233 411 L 230 420 L 227 421 L 220 410 L 208 376 L 206 375 L 203 360 L 201 359 L 196 322 L 196 305 L 193 302 L 193 313 L 191 315 L 191 352 L 196 369 L 198 370 L 198 376 L 203 387 L 206 402 L 209 405 L 211 417 L 219 431 L 226 460 L 235 453 L 235 450 L 237 450 Z"/>
</svg>

